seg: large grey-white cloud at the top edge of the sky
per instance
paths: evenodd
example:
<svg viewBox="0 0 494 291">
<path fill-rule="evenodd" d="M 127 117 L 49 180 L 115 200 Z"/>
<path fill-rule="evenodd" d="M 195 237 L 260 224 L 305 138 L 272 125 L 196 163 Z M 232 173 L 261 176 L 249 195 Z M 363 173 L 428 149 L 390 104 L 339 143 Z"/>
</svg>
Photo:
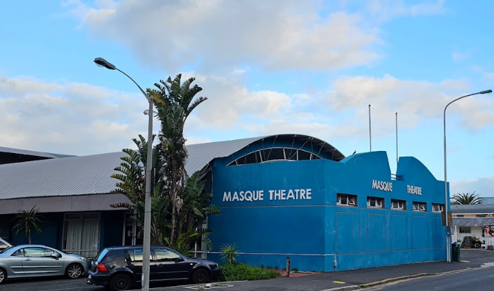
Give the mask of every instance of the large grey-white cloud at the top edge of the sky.
<svg viewBox="0 0 494 291">
<path fill-rule="evenodd" d="M 105 1 L 108 2 L 108 1 Z M 368 64 L 377 30 L 358 14 L 317 13 L 315 2 L 123 0 L 72 13 L 91 34 L 131 47 L 150 66 L 200 61 L 205 67 L 249 62 L 269 70 L 328 70 Z M 143 44 L 146 45 L 143 45 Z"/>
</svg>

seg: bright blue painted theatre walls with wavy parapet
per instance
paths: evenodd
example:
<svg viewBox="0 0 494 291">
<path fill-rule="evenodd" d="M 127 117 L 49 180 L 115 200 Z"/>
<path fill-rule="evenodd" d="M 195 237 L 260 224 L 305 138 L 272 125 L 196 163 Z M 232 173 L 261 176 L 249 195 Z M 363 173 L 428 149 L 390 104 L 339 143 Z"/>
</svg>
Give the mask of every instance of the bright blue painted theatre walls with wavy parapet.
<svg viewBox="0 0 494 291">
<path fill-rule="evenodd" d="M 392 180 L 385 152 L 354 154 L 339 162 L 228 166 L 266 146 L 254 143 L 212 163 L 212 204 L 222 212 L 209 218 L 213 251 L 237 243 L 238 251 L 246 253 L 238 261 L 283 268 L 291 257 L 294 268 L 326 272 L 445 259 L 445 227 L 440 213 L 431 212 L 432 203 L 445 203 L 444 183 L 417 159 L 400 158 L 396 174 L 401 180 Z M 372 180 L 392 183 L 392 191 L 372 189 Z M 407 185 L 421 187 L 422 195 L 408 194 Z M 311 189 L 311 195 L 300 199 L 298 191 L 299 199 L 289 197 L 295 189 Z M 247 191 L 247 198 L 254 193 L 252 200 L 245 199 Z M 260 193 L 262 200 L 256 200 Z M 337 205 L 338 193 L 357 195 L 357 207 Z M 368 196 L 384 198 L 385 208 L 367 207 Z M 391 210 L 392 199 L 405 200 L 407 210 Z M 412 211 L 414 201 L 426 202 L 427 212 Z"/>
</svg>

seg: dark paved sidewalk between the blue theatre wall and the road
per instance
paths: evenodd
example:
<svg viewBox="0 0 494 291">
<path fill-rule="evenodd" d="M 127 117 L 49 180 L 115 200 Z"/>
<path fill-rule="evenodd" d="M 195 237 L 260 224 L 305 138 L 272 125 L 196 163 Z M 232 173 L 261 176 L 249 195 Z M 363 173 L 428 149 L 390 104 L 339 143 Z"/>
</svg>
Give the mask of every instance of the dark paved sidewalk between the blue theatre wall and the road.
<svg viewBox="0 0 494 291">
<path fill-rule="evenodd" d="M 479 249 L 462 249 L 461 261 L 438 261 L 431 263 L 407 264 L 361 270 L 325 272 L 313 275 L 259 281 L 218 282 L 227 284 L 226 288 L 205 288 L 203 290 L 225 291 L 321 291 L 321 290 L 356 290 L 359 286 L 375 286 L 382 283 L 409 279 L 420 276 L 436 275 L 445 272 L 459 272 L 472 268 L 494 266 L 494 251 Z M 153 288 L 156 291 L 188 291 L 187 286 Z M 189 286 L 190 287 L 190 286 Z"/>
</svg>

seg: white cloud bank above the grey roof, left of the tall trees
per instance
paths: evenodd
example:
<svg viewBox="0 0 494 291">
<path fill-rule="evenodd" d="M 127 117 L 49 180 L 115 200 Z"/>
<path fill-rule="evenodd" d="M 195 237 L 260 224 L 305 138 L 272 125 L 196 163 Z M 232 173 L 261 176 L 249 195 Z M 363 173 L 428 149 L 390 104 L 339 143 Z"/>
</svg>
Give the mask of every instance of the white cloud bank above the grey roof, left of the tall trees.
<svg viewBox="0 0 494 291">
<path fill-rule="evenodd" d="M 142 96 L 89 84 L 0 76 L 1 146 L 94 154 L 133 146 L 146 135 Z"/>
</svg>

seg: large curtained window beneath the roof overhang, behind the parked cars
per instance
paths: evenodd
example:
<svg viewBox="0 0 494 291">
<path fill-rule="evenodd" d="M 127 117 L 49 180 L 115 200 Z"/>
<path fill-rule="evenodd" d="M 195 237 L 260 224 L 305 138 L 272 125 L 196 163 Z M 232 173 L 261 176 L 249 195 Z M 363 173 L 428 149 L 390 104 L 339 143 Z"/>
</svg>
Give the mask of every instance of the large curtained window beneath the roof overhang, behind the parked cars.
<svg viewBox="0 0 494 291">
<path fill-rule="evenodd" d="M 66 213 L 63 251 L 94 257 L 100 246 L 100 213 Z"/>
</svg>

